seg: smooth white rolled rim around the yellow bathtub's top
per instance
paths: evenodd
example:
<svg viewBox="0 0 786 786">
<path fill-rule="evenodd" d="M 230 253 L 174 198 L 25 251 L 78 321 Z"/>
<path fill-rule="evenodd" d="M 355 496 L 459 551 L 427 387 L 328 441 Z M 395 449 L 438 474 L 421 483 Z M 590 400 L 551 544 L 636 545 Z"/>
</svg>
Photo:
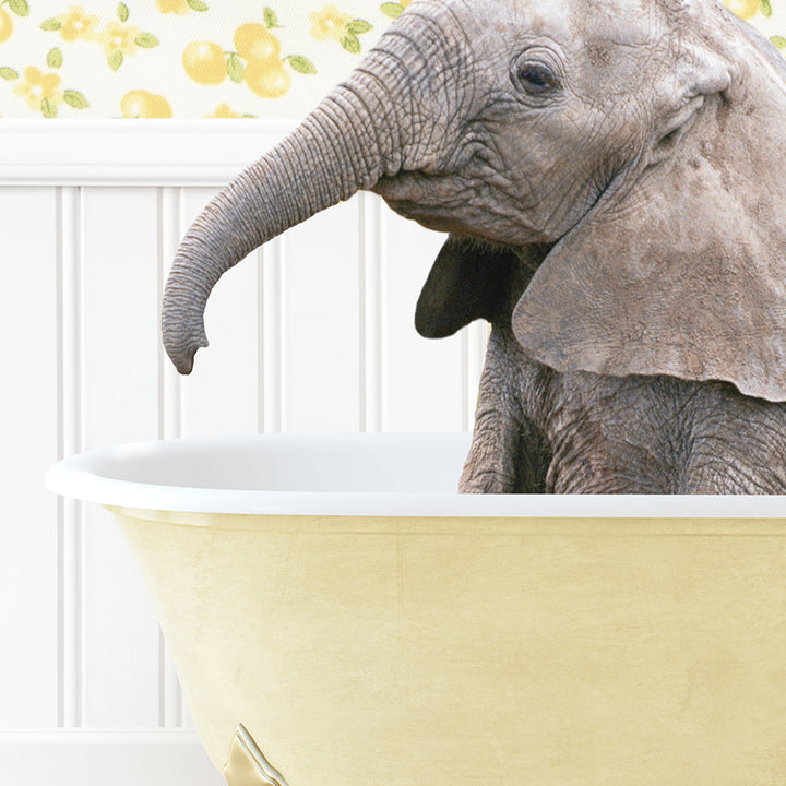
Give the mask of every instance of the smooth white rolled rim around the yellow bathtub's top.
<svg viewBox="0 0 786 786">
<path fill-rule="evenodd" d="M 258 444 L 354 446 L 406 440 L 444 443 L 456 453 L 450 474 L 457 483 L 471 434 L 276 433 L 157 440 L 92 450 L 64 458 L 46 475 L 63 497 L 107 507 L 215 514 L 309 516 L 525 517 L 525 519 L 784 519 L 786 495 L 458 495 L 456 491 L 308 491 L 162 485 L 112 477 L 114 468 L 145 456 L 218 455 Z"/>
</svg>

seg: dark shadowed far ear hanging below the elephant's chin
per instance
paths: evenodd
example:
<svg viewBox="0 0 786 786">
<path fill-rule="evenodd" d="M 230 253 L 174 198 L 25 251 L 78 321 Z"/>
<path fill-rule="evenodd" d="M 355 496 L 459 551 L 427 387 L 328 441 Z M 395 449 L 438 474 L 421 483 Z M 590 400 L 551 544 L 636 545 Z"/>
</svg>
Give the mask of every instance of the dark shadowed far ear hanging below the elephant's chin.
<svg viewBox="0 0 786 786">
<path fill-rule="evenodd" d="M 517 265 L 519 258 L 510 249 L 450 235 L 418 298 L 417 332 L 427 338 L 444 338 L 476 319 L 495 321 Z"/>
</svg>

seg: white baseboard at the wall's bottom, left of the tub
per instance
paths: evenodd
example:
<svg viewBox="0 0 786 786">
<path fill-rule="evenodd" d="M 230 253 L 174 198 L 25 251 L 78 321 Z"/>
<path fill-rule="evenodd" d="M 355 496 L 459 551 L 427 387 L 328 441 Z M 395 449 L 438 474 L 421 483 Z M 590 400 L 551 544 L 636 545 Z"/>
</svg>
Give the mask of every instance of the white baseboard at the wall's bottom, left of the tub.
<svg viewBox="0 0 786 786">
<path fill-rule="evenodd" d="M 0 731 L 2 786 L 226 786 L 193 731 Z"/>
</svg>

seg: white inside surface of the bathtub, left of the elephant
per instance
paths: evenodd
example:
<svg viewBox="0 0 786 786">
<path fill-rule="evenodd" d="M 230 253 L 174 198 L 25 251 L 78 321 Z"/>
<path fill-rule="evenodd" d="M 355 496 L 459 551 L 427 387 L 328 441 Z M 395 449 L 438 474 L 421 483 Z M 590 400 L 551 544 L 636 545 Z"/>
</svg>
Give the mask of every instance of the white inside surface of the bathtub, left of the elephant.
<svg viewBox="0 0 786 786">
<path fill-rule="evenodd" d="M 127 445 L 96 456 L 123 483 L 243 491 L 451 493 L 467 433 L 264 434 Z"/>
</svg>

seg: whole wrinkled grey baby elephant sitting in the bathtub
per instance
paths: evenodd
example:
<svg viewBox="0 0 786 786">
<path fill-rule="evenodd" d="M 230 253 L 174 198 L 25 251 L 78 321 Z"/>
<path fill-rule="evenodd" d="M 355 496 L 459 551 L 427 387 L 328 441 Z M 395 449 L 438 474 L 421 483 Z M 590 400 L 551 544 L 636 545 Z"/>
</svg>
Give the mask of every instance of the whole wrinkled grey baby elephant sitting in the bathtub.
<svg viewBox="0 0 786 786">
<path fill-rule="evenodd" d="M 452 233 L 420 332 L 493 325 L 463 491 L 786 491 L 784 182 L 786 68 L 713 0 L 415 0 L 196 219 L 165 346 L 370 189 Z"/>
</svg>

